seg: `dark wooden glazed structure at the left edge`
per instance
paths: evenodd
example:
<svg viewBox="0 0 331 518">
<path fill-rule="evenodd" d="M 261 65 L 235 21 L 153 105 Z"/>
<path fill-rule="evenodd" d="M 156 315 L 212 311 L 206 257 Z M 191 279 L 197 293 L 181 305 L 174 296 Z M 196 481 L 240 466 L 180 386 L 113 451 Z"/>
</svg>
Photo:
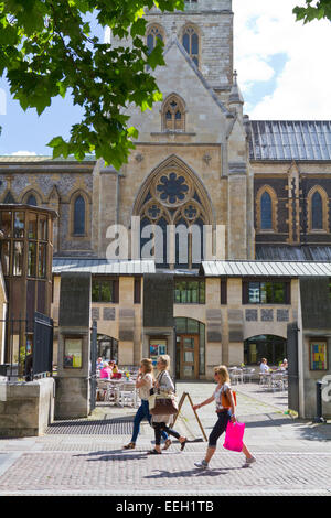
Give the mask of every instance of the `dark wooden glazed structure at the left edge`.
<svg viewBox="0 0 331 518">
<path fill-rule="evenodd" d="M 13 349 L 31 344 L 34 312 L 46 316 L 52 303 L 53 222 L 55 211 L 0 204 L 1 266 L 8 292 L 4 361 Z M 22 321 L 26 325 L 21 325 Z M 30 346 L 28 346 L 29 350 Z"/>
</svg>

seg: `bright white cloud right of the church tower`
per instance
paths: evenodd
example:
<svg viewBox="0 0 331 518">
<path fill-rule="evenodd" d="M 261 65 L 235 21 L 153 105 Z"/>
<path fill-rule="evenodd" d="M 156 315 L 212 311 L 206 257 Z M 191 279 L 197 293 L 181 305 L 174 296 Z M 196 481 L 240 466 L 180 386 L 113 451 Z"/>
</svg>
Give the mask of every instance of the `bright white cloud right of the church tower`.
<svg viewBox="0 0 331 518">
<path fill-rule="evenodd" d="M 235 68 L 244 97 L 256 82 L 275 79 L 275 90 L 249 106 L 252 119 L 331 118 L 331 25 L 296 22 L 298 0 L 233 0 Z M 270 60 L 286 54 L 276 76 Z"/>
</svg>

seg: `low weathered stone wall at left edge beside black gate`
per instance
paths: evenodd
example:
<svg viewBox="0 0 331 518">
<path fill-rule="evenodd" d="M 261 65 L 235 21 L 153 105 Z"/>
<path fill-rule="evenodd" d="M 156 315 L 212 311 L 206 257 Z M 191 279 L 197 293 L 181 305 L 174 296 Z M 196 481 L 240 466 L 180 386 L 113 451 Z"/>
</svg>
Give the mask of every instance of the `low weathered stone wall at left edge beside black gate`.
<svg viewBox="0 0 331 518">
<path fill-rule="evenodd" d="M 54 419 L 54 379 L 12 382 L 0 377 L 0 436 L 36 436 Z"/>
</svg>

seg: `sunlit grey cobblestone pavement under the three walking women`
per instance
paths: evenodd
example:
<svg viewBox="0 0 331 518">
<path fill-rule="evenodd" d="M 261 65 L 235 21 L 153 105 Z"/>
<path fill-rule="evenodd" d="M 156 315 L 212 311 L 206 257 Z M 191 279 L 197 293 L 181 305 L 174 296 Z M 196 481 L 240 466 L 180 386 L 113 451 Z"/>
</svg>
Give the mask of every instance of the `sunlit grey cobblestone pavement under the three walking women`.
<svg viewBox="0 0 331 518">
<path fill-rule="evenodd" d="M 178 384 L 193 402 L 213 392 L 212 384 Z M 245 442 L 256 464 L 243 468 L 244 456 L 218 441 L 211 468 L 194 466 L 205 442 L 190 442 L 184 452 L 173 442 L 162 456 L 147 455 L 152 429 L 141 427 L 137 449 L 122 451 L 129 435 L 46 434 L 0 441 L 0 496 L 3 495 L 331 495 L 331 427 L 292 420 L 286 395 L 266 395 L 258 386 L 237 386 L 237 414 L 246 423 Z M 100 422 L 130 419 L 132 409 L 99 406 L 90 418 Z M 199 416 L 209 435 L 214 406 Z M 95 423 L 94 423 L 95 424 Z M 202 432 L 188 401 L 175 424 L 191 441 Z"/>
</svg>

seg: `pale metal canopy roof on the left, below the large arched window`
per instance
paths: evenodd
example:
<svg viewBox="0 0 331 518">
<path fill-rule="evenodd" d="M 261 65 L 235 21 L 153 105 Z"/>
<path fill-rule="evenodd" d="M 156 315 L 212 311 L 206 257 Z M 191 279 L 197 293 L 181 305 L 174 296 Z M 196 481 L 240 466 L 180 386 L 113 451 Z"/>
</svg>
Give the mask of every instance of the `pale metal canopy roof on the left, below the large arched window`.
<svg viewBox="0 0 331 518">
<path fill-rule="evenodd" d="M 61 274 L 65 271 L 90 272 L 92 274 L 120 274 L 120 276 L 142 276 L 143 273 L 154 273 L 154 261 L 108 261 L 107 259 L 89 258 L 53 258 L 53 274 Z"/>
</svg>

